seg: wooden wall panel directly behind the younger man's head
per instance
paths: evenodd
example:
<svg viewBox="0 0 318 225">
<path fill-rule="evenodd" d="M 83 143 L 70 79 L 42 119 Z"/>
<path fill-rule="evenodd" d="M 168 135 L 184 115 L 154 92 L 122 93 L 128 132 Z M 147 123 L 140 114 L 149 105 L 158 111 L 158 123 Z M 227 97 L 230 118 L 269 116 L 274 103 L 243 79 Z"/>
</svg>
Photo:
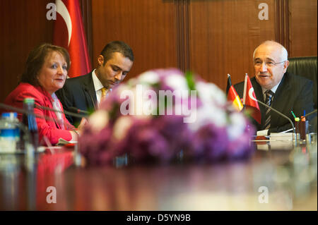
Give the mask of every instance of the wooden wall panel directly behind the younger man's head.
<svg viewBox="0 0 318 225">
<path fill-rule="evenodd" d="M 94 0 L 92 14 L 94 66 L 105 44 L 119 39 L 134 51 L 130 78 L 152 68 L 177 67 L 173 1 Z"/>
</svg>

